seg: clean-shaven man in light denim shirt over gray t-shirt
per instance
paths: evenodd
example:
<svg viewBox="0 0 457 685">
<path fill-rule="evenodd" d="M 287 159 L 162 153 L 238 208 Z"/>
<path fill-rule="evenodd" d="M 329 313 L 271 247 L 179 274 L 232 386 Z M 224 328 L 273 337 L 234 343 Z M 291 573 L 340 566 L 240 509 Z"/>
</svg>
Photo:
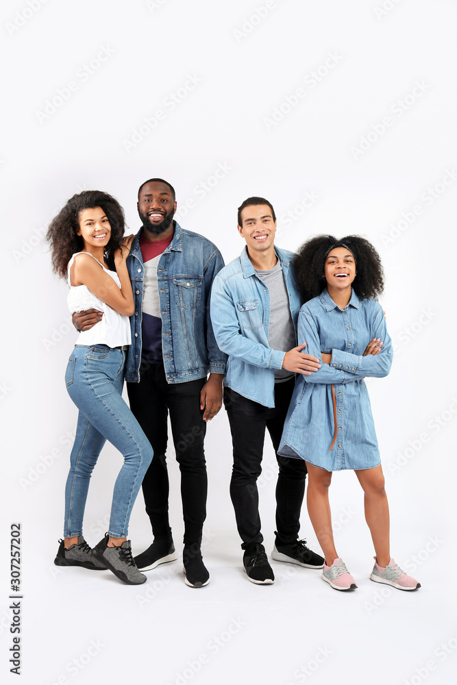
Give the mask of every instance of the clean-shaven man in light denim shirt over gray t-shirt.
<svg viewBox="0 0 457 685">
<path fill-rule="evenodd" d="M 234 465 L 230 497 L 243 543 L 249 580 L 271 584 L 274 574 L 262 545 L 257 479 L 262 471 L 265 429 L 275 452 L 280 444 L 295 373 L 319 369 L 317 358 L 302 353 L 296 325 L 300 299 L 293 253 L 274 245 L 276 216 L 263 197 L 249 197 L 238 208 L 238 232 L 246 245 L 219 271 L 211 295 L 211 321 L 219 348 L 229 355 L 224 404 L 230 422 Z M 277 455 L 275 545 L 277 561 L 321 569 L 323 558 L 298 540 L 306 464 Z"/>
</svg>

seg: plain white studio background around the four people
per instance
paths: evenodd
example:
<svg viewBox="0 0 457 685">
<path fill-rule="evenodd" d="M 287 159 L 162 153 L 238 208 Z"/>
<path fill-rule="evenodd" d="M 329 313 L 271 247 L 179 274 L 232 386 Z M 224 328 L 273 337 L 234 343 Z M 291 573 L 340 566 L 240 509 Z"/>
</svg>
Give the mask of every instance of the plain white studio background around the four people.
<svg viewBox="0 0 457 685">
<path fill-rule="evenodd" d="M 24 684 L 453 682 L 456 3 L 21 0 L 0 12 L 1 672 L 16 682 L 8 540 L 19 521 Z M 153 127 L 157 110 L 164 116 Z M 249 195 L 273 203 L 281 247 L 356 233 L 380 251 L 396 355 L 391 374 L 369 388 L 392 553 L 419 578 L 419 592 L 369 580 L 373 549 L 350 472 L 335 475 L 331 501 L 337 549 L 359 589 L 336 593 L 318 571 L 277 562 L 275 585 L 247 582 L 223 411 L 206 440 L 207 588 L 184 585 L 181 561 L 149 573 L 141 588 L 53 566 L 76 422 L 63 376 L 76 334 L 41 238 L 84 188 L 115 195 L 136 232 L 136 191 L 153 176 L 175 186 L 180 223 L 213 240 L 226 262 L 243 247 L 236 208 Z M 84 527 L 92 545 L 107 529 L 120 462 L 107 446 L 95 469 Z M 274 462 L 266 440 L 267 551 Z M 181 551 L 173 447 L 169 470 Z M 141 494 L 129 536 L 135 553 L 151 542 Z M 305 506 L 301 536 L 318 549 Z"/>
</svg>

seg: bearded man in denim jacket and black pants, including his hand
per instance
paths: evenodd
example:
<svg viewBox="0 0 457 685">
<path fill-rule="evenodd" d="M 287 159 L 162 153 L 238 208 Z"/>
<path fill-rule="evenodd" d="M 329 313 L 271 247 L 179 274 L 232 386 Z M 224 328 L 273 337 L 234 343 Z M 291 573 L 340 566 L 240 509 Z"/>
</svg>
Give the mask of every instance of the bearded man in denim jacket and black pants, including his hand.
<svg viewBox="0 0 457 685">
<path fill-rule="evenodd" d="M 203 438 L 206 422 L 222 406 L 226 360 L 214 339 L 208 307 L 223 258 L 210 240 L 173 221 L 175 190 L 163 179 L 140 186 L 137 208 L 143 227 L 127 238 L 135 312 L 125 379 L 130 408 L 154 456 L 143 479 L 153 543 L 135 561 L 138 569 L 149 571 L 177 559 L 165 456 L 169 415 L 181 471 L 186 584 L 199 588 L 210 582 L 201 558 L 208 489 Z M 96 320 L 92 311 L 75 314 L 73 323 L 85 330 Z"/>
</svg>

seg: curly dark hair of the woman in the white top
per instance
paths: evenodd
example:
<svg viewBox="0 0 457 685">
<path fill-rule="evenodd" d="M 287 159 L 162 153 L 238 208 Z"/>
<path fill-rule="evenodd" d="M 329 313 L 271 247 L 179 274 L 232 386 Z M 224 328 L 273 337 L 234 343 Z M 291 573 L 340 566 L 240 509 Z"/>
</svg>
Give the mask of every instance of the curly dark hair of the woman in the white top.
<svg viewBox="0 0 457 685">
<path fill-rule="evenodd" d="M 124 210 L 108 192 L 84 190 L 69 199 L 53 218 L 47 230 L 46 239 L 51 247 L 52 268 L 62 278 L 66 278 L 71 256 L 84 247 L 82 237 L 76 234 L 79 229 L 79 214 L 83 210 L 95 207 L 101 207 L 110 222 L 111 237 L 105 247 L 105 259 L 110 269 L 114 269 L 114 252 L 121 247 L 125 231 Z"/>
</svg>

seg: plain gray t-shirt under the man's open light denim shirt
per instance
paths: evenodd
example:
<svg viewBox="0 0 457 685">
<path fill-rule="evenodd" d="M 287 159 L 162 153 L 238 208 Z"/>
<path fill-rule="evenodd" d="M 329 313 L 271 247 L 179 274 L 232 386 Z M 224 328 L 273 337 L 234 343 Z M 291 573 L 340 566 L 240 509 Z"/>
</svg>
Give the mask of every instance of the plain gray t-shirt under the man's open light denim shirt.
<svg viewBox="0 0 457 685">
<path fill-rule="evenodd" d="M 267 286 L 270 293 L 270 329 L 268 344 L 271 349 L 288 352 L 295 347 L 295 329 L 291 316 L 291 307 L 281 262 L 278 259 L 273 269 L 256 271 L 256 274 Z M 295 373 L 286 369 L 275 369 L 275 383 L 284 383 L 293 378 Z"/>
</svg>

